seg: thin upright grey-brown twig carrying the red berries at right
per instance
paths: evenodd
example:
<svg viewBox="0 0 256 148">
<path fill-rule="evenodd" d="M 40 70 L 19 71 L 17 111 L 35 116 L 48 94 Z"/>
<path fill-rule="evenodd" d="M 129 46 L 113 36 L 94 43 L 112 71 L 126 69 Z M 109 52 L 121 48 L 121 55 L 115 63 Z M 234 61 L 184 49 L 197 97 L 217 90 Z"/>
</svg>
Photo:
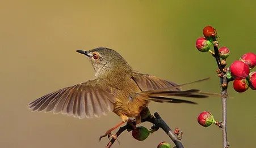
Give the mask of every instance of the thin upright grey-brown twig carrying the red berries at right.
<svg viewBox="0 0 256 148">
<path fill-rule="evenodd" d="M 217 66 L 219 67 L 221 73 L 223 73 L 223 76 L 220 77 L 220 84 L 221 84 L 221 95 L 223 97 L 221 97 L 221 102 L 222 102 L 222 115 L 223 115 L 223 121 L 221 123 L 221 127 L 223 129 L 223 147 L 224 148 L 228 148 L 229 144 L 228 144 L 228 136 L 226 134 L 226 97 L 228 95 L 228 81 L 226 80 L 226 72 L 223 71 L 223 68 L 225 68 L 225 66 L 221 65 L 220 62 L 220 55 L 219 55 L 219 49 L 218 49 L 219 43 L 218 41 L 214 41 L 213 43 L 213 47 L 214 47 L 214 55 L 216 62 L 217 62 Z"/>
</svg>

